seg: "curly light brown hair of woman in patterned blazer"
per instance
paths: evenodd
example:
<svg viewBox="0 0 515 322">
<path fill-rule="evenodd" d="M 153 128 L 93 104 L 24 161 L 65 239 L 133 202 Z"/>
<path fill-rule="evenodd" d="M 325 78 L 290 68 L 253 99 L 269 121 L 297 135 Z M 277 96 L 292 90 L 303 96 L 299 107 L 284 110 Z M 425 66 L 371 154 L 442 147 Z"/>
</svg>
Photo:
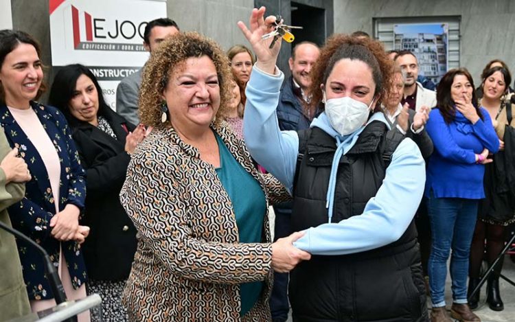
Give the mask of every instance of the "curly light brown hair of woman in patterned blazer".
<svg viewBox="0 0 515 322">
<path fill-rule="evenodd" d="M 141 76 L 139 91 L 139 119 L 146 126 L 170 128 L 170 122 L 161 123 L 163 91 L 176 69 L 183 68 L 187 58 L 209 57 L 216 68 L 220 86 L 220 108 L 214 122 L 221 122 L 227 115 L 227 102 L 231 100 L 231 69 L 229 60 L 213 40 L 196 32 L 184 32 L 163 41 L 152 51 Z"/>
</svg>

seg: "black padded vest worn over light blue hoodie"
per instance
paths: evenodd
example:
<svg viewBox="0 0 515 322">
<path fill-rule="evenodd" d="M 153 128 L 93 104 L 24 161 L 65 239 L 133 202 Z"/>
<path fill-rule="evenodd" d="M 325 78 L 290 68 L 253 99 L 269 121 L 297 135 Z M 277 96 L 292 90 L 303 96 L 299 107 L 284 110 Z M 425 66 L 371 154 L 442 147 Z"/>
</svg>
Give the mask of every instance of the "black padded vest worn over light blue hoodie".
<svg viewBox="0 0 515 322">
<path fill-rule="evenodd" d="M 386 124 L 371 122 L 339 163 L 332 222 L 360 215 L 385 177 Z M 334 139 L 312 128 L 294 187 L 293 231 L 327 222 L 325 196 Z M 379 229 L 379 227 L 378 227 Z M 352 255 L 313 255 L 290 272 L 294 321 L 426 321 L 426 296 L 413 222 L 399 240 Z"/>
</svg>

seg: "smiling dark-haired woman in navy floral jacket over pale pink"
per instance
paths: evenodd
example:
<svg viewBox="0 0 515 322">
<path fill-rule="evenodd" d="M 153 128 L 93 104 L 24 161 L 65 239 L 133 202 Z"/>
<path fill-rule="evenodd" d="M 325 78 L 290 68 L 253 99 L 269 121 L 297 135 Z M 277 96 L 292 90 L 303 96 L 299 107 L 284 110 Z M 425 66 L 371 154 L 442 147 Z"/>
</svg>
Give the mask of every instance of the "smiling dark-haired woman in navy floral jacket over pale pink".
<svg viewBox="0 0 515 322">
<path fill-rule="evenodd" d="M 84 170 L 65 117 L 34 102 L 43 81 L 39 52 L 25 32 L 0 31 L 0 124 L 32 174 L 25 197 L 9 208 L 9 215 L 14 228 L 49 253 L 67 298 L 80 299 L 86 296 L 87 273 L 79 244 L 89 233 L 78 222 L 86 194 Z M 19 245 L 19 254 L 32 310 L 54 306 L 41 255 L 25 245 Z M 89 312 L 79 321 L 89 321 Z"/>
</svg>

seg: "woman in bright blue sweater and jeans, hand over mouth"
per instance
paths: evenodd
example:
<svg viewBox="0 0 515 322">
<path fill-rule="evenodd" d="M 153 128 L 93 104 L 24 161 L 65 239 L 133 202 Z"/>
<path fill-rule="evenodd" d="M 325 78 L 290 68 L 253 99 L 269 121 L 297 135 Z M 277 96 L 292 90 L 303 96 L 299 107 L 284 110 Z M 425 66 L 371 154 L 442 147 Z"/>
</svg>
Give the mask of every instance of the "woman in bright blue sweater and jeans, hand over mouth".
<svg viewBox="0 0 515 322">
<path fill-rule="evenodd" d="M 485 198 L 485 163 L 492 161 L 489 151 L 499 150 L 499 138 L 488 112 L 477 107 L 474 82 L 466 69 L 451 69 L 439 82 L 437 108 L 429 113 L 426 130 L 435 146 L 428 161 L 425 192 L 431 222 L 431 319 L 451 321 L 444 295 L 452 249 L 451 315 L 459 321 L 480 321 L 467 304 L 468 258 L 477 205 Z"/>
</svg>

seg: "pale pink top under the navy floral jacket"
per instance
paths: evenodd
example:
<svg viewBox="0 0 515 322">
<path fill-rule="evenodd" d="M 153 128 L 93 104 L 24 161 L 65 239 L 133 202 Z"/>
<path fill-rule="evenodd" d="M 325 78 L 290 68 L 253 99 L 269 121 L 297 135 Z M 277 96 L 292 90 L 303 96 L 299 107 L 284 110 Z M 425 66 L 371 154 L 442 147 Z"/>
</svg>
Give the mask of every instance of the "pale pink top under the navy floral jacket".
<svg viewBox="0 0 515 322">
<path fill-rule="evenodd" d="M 25 135 L 38 151 L 45 168 L 47 168 L 50 187 L 52 187 L 52 195 L 54 196 L 54 205 L 56 205 L 56 213 L 59 212 L 59 181 L 61 176 L 61 163 L 56 151 L 56 147 L 48 136 L 47 131 L 43 128 L 43 124 L 39 122 L 38 115 L 32 108 L 20 110 L 18 108 L 9 107 L 12 117 L 16 120 Z M 27 163 L 30 164 L 30 163 Z"/>
</svg>

